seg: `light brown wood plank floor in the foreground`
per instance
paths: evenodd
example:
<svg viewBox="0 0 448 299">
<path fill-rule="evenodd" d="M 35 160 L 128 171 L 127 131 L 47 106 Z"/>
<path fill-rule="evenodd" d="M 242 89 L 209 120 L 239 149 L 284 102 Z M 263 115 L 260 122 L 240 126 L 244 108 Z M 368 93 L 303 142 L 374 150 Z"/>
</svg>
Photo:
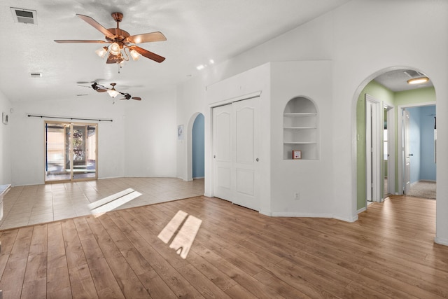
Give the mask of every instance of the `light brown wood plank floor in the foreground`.
<svg viewBox="0 0 448 299">
<path fill-rule="evenodd" d="M 186 259 L 158 238 L 180 210 L 202 220 Z M 435 201 L 415 197 L 374 203 L 356 223 L 193 197 L 0 234 L 8 299 L 448 298 Z"/>
</svg>

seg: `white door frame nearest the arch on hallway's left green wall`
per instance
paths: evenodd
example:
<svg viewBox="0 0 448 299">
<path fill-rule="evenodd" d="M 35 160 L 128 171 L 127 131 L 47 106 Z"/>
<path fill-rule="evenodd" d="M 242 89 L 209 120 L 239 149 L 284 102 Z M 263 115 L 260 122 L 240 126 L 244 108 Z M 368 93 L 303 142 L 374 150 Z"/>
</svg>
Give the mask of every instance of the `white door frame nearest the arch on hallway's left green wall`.
<svg viewBox="0 0 448 299">
<path fill-rule="evenodd" d="M 382 109 L 379 100 L 365 94 L 365 206 L 367 201 L 381 202 L 381 134 L 379 123 Z"/>
</svg>

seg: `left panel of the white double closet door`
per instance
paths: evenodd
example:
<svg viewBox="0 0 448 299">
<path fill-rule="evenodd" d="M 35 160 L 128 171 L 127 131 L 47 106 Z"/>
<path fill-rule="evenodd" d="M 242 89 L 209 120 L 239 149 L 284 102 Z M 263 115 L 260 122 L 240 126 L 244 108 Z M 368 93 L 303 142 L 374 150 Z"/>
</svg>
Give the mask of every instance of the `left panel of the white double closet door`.
<svg viewBox="0 0 448 299">
<path fill-rule="evenodd" d="M 232 105 L 213 109 L 214 196 L 232 200 Z"/>
</svg>

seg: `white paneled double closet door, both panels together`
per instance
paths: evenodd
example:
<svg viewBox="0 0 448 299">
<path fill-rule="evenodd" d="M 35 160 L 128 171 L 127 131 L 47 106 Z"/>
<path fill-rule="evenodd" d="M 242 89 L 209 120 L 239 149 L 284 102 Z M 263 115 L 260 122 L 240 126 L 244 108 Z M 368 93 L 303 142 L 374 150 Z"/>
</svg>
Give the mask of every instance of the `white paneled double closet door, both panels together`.
<svg viewBox="0 0 448 299">
<path fill-rule="evenodd" d="M 214 195 L 260 209 L 260 99 L 214 109 Z"/>
</svg>

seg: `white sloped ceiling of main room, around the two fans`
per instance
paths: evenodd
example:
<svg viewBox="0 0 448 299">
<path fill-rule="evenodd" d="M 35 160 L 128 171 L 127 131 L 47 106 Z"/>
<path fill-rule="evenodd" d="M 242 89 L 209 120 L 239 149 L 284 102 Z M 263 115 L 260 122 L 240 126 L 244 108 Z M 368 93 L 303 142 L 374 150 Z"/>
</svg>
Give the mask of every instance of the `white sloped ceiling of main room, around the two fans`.
<svg viewBox="0 0 448 299">
<path fill-rule="evenodd" d="M 198 74 L 196 67 L 220 63 L 318 17 L 349 0 L 1 0 L 0 90 L 11 102 L 76 99 L 92 95 L 80 82 L 117 83 L 117 90 L 139 96 Z M 10 7 L 36 11 L 37 25 L 15 21 Z M 94 50 L 100 43 L 55 43 L 55 39 L 104 40 L 76 14 L 115 28 L 111 13 L 124 14 L 120 29 L 131 35 L 160 31 L 167 41 L 139 46 L 166 57 L 145 57 L 120 69 Z M 30 73 L 40 72 L 41 78 Z M 89 84 L 81 84 L 89 85 Z M 121 87 L 121 88 L 120 88 Z"/>
</svg>

